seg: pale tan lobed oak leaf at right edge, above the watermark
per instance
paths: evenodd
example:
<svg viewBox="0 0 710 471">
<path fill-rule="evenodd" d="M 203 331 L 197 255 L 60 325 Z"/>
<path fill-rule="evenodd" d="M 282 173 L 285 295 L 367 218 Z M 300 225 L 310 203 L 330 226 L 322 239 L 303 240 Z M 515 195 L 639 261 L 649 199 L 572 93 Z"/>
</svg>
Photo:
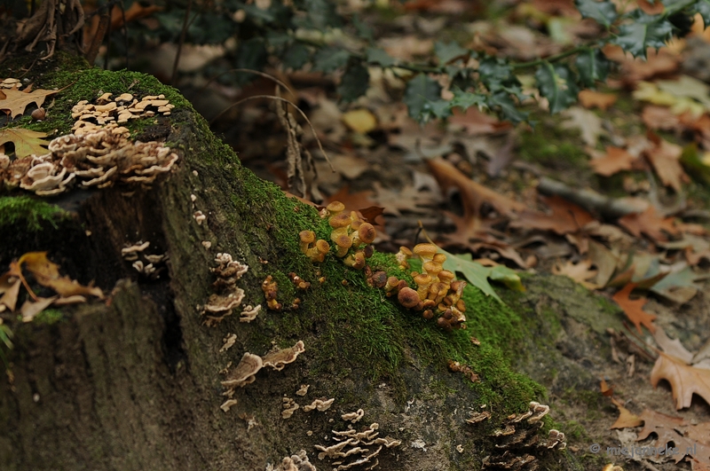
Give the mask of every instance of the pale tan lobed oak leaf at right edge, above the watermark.
<svg viewBox="0 0 710 471">
<path fill-rule="evenodd" d="M 693 394 L 697 394 L 710 404 L 710 370 L 694 368 L 676 357 L 659 352 L 656 365 L 653 365 L 651 371 L 651 385 L 655 388 L 660 380 L 666 380 L 671 384 L 677 410 L 690 407 Z"/>
</svg>

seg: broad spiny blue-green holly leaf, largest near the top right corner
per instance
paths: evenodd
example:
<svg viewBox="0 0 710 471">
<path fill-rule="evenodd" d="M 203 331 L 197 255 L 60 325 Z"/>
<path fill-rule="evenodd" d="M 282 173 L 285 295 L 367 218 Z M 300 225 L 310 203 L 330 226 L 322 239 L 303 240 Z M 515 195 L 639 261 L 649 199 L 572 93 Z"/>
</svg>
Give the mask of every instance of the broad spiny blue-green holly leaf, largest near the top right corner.
<svg viewBox="0 0 710 471">
<path fill-rule="evenodd" d="M 648 15 L 635 10 L 628 18 L 632 21 L 619 27 L 619 35 L 612 43 L 619 44 L 634 57 L 646 59 L 647 48 L 658 50 L 672 37 L 673 24 L 663 15 Z"/>
</svg>

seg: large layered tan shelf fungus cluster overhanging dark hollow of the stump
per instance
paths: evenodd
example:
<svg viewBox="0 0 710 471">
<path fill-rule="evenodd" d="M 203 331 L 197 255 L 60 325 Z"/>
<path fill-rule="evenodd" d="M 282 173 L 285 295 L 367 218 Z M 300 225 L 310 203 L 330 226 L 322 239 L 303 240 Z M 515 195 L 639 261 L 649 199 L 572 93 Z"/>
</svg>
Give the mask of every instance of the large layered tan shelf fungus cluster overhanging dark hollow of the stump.
<svg viewBox="0 0 710 471">
<path fill-rule="evenodd" d="M 121 132 L 105 129 L 57 137 L 48 150 L 13 161 L 0 159 L 4 185 L 52 196 L 74 186 L 86 189 L 106 188 L 116 182 L 152 184 L 178 159 L 177 153 L 159 142 L 134 143 Z"/>
</svg>

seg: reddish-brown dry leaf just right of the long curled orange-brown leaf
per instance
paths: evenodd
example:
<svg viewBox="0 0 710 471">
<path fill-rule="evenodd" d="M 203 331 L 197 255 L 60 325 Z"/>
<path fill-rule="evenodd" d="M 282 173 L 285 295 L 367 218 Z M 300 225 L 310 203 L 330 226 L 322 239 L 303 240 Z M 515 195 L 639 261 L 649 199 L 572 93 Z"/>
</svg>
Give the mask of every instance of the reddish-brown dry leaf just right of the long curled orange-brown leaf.
<svg viewBox="0 0 710 471">
<path fill-rule="evenodd" d="M 510 226 L 540 229 L 540 231 L 552 231 L 564 235 L 580 232 L 584 226 L 595 220 L 588 211 L 561 196 L 540 197 L 540 200 L 552 209 L 551 215 L 525 209 L 510 223 Z"/>
</svg>

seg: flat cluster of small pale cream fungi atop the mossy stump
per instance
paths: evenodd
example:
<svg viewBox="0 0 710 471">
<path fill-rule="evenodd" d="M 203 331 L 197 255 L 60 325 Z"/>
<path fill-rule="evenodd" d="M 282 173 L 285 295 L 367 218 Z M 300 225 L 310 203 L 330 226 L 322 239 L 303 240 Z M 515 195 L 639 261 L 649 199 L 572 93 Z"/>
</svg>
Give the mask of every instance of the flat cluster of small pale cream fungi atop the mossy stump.
<svg viewBox="0 0 710 471">
<path fill-rule="evenodd" d="M 96 98 L 96 103 L 82 100 L 72 108 L 72 118 L 76 120 L 72 130 L 81 134 L 84 129 L 92 129 L 96 124 L 122 124 L 143 117 L 155 115 L 168 116 L 175 107 L 165 99 L 165 95 L 143 97 L 139 100 L 130 93 L 122 93 L 112 98 L 111 93 L 104 93 Z"/>
</svg>

